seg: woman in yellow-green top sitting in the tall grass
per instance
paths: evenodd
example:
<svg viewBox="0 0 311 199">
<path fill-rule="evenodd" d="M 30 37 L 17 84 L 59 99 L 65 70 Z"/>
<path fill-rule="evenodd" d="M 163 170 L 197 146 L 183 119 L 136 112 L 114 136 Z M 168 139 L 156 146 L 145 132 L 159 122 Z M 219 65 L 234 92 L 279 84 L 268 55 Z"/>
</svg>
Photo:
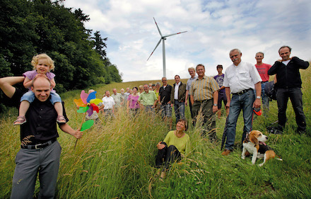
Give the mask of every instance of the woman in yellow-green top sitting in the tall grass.
<svg viewBox="0 0 311 199">
<path fill-rule="evenodd" d="M 180 119 L 176 124 L 176 130 L 168 132 L 165 139 L 157 144 L 158 155 L 155 159 L 155 166 L 160 168 L 164 165 L 163 169 L 159 169 L 157 172 L 160 178 L 165 178 L 170 163 L 180 161 L 181 157 L 189 152 L 190 139 L 186 130 L 187 121 Z"/>
</svg>

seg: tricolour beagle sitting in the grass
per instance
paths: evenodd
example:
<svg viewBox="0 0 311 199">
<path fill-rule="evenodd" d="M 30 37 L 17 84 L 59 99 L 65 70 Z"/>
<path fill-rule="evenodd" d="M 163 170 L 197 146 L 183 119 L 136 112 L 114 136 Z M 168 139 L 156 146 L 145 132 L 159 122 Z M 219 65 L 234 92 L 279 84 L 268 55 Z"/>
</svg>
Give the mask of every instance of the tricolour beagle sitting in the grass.
<svg viewBox="0 0 311 199">
<path fill-rule="evenodd" d="M 252 130 L 243 141 L 241 158 L 245 159 L 245 152 L 250 152 L 250 154 L 253 154 L 252 164 L 255 164 L 257 158 L 264 158 L 264 162 L 259 164 L 259 166 L 262 166 L 267 160 L 276 157 L 276 153 L 273 151 L 273 149 L 264 143 L 266 140 L 268 140 L 268 137 L 263 135 L 262 132 L 259 130 Z M 278 160 L 283 161 L 283 159 L 279 158 Z"/>
</svg>

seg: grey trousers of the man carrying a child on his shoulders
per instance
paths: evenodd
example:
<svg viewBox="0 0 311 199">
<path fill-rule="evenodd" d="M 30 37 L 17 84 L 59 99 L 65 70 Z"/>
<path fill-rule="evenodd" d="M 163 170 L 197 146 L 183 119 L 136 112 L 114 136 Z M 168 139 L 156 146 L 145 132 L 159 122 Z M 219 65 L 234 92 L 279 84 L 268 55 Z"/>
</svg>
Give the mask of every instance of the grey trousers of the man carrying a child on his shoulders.
<svg viewBox="0 0 311 199">
<path fill-rule="evenodd" d="M 38 198 L 54 198 L 61 146 L 55 141 L 43 149 L 20 149 L 16 154 L 11 198 L 33 198 L 39 173 Z"/>
</svg>

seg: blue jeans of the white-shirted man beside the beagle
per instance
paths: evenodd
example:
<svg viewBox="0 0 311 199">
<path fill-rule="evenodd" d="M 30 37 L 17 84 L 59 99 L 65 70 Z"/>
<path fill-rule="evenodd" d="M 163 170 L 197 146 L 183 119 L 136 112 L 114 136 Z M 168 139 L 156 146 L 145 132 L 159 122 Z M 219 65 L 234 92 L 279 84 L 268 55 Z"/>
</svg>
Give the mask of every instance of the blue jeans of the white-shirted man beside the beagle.
<svg viewBox="0 0 311 199">
<path fill-rule="evenodd" d="M 243 110 L 244 128 L 242 142 L 245 140 L 246 133 L 252 130 L 253 103 L 255 100 L 254 91 L 250 90 L 242 95 L 233 94 L 230 101 L 230 110 L 227 123 L 227 140 L 225 149 L 232 150 L 235 143 L 235 128 L 237 126 L 237 118 Z"/>
</svg>

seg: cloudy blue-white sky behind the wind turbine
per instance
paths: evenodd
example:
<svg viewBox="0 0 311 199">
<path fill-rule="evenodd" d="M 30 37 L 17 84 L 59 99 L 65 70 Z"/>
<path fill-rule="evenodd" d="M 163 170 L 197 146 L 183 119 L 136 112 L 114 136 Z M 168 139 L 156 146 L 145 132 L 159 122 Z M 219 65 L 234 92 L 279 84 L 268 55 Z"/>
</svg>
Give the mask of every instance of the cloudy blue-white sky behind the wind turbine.
<svg viewBox="0 0 311 199">
<path fill-rule="evenodd" d="M 165 40 L 166 76 L 189 78 L 188 67 L 204 64 L 206 75 L 216 75 L 232 62 L 229 51 L 239 48 L 242 61 L 279 59 L 278 48 L 289 45 L 291 55 L 310 60 L 311 1 L 199 1 L 199 0 L 66 0 L 90 16 L 86 28 L 107 37 L 107 57 L 124 81 L 154 80 L 163 76 L 162 44 L 153 17 L 163 35 L 188 31 Z"/>
</svg>

